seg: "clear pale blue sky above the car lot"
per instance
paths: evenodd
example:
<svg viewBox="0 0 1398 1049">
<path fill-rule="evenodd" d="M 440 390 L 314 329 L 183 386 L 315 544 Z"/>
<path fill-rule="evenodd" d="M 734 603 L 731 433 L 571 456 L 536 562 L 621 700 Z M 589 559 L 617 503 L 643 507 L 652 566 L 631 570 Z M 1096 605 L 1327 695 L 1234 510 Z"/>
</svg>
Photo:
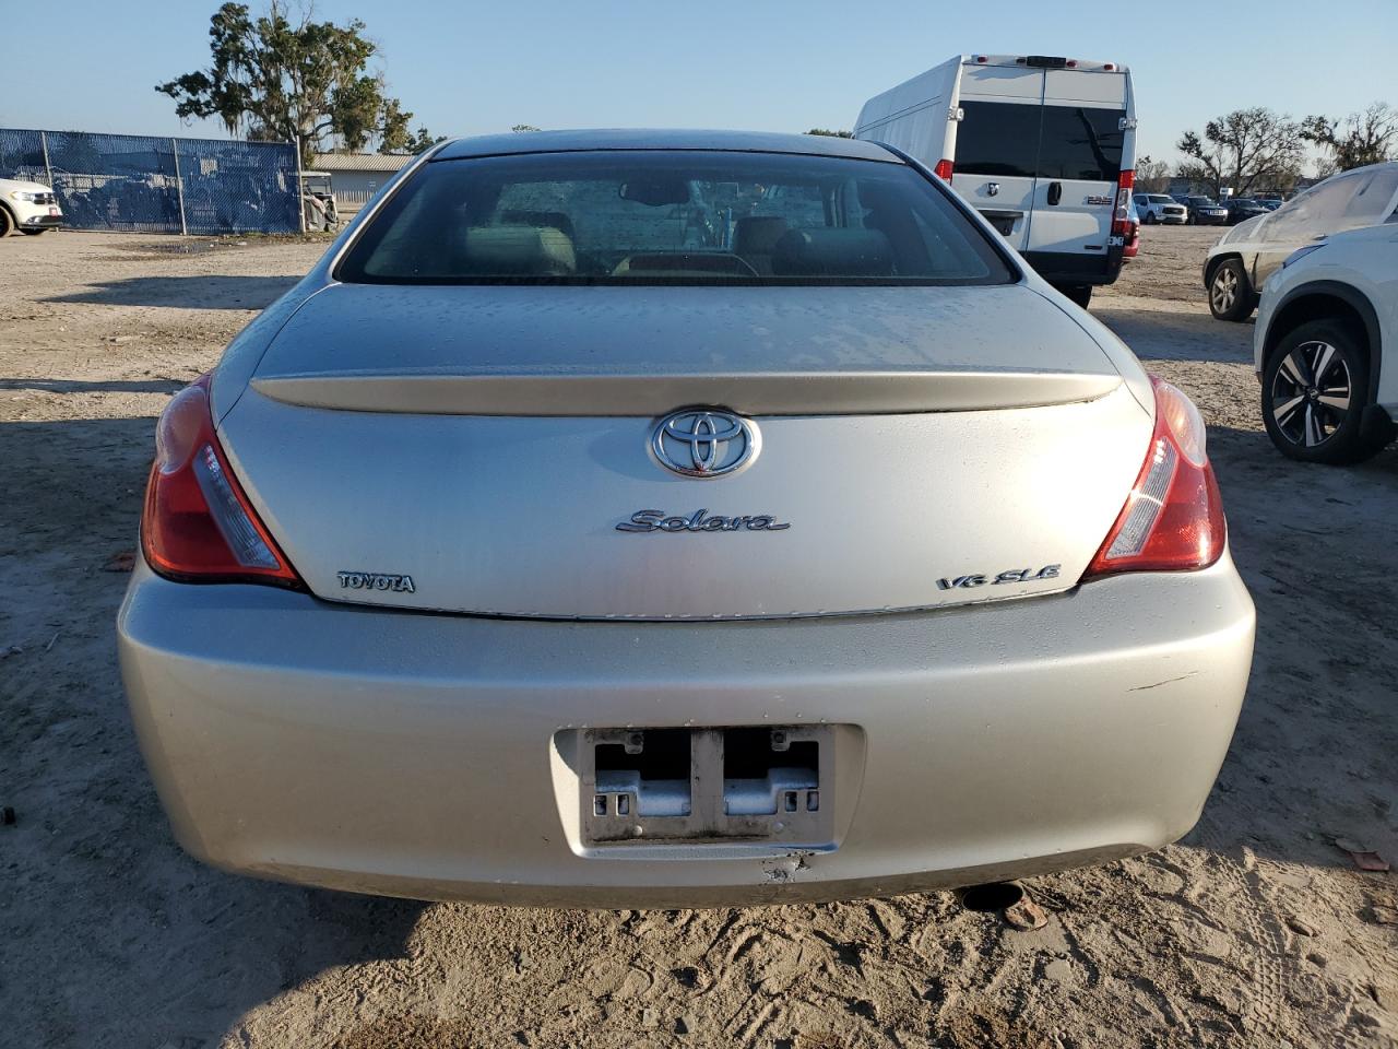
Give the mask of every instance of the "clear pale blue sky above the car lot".
<svg viewBox="0 0 1398 1049">
<path fill-rule="evenodd" d="M 217 6 L 64 0 L 46 10 L 34 24 L 45 46 L 4 48 L 0 126 L 224 137 L 215 123 L 183 126 L 152 90 L 208 63 Z M 0 8 L 35 10 L 22 0 Z M 1100 0 L 317 0 L 316 11 L 368 24 L 393 92 L 436 134 L 516 123 L 850 127 L 870 95 L 973 50 L 1130 64 L 1138 152 L 1156 158 L 1176 158 L 1186 127 L 1240 106 L 1342 116 L 1378 99 L 1398 105 L 1398 0 L 1233 11 Z"/>
</svg>

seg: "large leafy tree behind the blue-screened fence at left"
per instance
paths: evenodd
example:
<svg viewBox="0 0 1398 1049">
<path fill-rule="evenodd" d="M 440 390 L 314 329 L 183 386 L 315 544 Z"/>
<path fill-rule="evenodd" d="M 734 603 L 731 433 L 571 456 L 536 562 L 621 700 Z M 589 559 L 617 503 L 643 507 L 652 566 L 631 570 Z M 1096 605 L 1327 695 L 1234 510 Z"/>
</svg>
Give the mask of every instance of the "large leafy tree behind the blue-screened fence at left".
<svg viewBox="0 0 1398 1049">
<path fill-rule="evenodd" d="M 306 165 L 334 140 L 403 152 L 428 138 L 425 129 L 408 131 L 412 113 L 386 94 L 383 73 L 368 69 L 377 46 L 363 22 L 312 18 L 310 7 L 285 0 L 270 0 L 259 18 L 247 4 L 225 3 L 210 18 L 212 64 L 155 90 L 175 99 L 182 119 L 218 117 L 252 140 L 299 140 Z"/>
</svg>

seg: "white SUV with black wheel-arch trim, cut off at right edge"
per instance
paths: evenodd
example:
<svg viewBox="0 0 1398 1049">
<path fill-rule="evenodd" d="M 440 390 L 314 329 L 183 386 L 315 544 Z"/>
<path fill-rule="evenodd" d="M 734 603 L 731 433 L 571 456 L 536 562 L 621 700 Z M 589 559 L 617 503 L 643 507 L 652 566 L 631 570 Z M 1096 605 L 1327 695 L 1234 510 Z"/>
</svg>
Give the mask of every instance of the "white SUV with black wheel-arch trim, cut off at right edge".
<svg viewBox="0 0 1398 1049">
<path fill-rule="evenodd" d="M 1282 455 L 1357 463 L 1394 438 L 1398 217 L 1292 252 L 1267 281 L 1253 364 L 1262 421 Z"/>
</svg>

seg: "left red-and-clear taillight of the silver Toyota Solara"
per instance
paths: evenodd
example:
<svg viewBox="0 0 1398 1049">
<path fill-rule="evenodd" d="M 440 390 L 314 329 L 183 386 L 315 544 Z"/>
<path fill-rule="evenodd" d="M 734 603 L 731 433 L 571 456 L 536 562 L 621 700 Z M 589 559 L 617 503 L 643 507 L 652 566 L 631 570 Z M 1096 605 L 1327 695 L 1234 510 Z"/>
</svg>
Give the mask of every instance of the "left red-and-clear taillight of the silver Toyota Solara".
<svg viewBox="0 0 1398 1049">
<path fill-rule="evenodd" d="M 210 376 L 175 394 L 155 428 L 141 550 L 159 575 L 185 582 L 301 586 L 243 495 L 214 434 Z"/>
</svg>

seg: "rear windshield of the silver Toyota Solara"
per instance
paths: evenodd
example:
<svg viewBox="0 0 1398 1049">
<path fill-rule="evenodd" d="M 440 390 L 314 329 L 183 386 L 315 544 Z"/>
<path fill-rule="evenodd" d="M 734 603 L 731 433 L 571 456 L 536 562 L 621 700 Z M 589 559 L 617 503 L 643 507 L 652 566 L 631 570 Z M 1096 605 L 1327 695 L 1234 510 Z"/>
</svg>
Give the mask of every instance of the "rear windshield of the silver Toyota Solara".
<svg viewBox="0 0 1398 1049">
<path fill-rule="evenodd" d="M 717 151 L 432 161 L 336 274 L 369 284 L 1002 284 L 905 164 Z"/>
</svg>

